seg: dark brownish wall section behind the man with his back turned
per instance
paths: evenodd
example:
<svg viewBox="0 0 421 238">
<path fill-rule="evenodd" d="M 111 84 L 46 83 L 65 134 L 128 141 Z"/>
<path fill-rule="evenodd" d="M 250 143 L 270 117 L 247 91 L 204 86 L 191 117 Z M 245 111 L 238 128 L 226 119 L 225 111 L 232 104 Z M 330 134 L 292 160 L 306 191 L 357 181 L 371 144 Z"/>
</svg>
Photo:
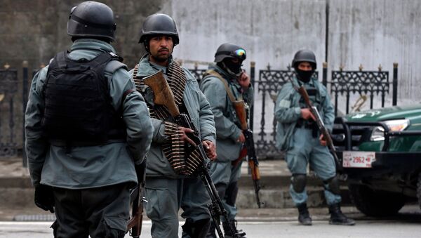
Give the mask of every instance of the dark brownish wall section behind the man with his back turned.
<svg viewBox="0 0 421 238">
<path fill-rule="evenodd" d="M 80 0 L 0 0 L 0 67 L 6 63 L 18 69 L 18 97 L 14 99 L 13 130 L 18 147 L 22 147 L 22 61 L 27 60 L 29 77 L 32 70 L 47 65 L 58 51 L 72 44 L 67 35 L 67 19 L 70 9 Z M 112 45 L 133 67 L 140 55 L 145 53 L 138 44 L 140 27 L 145 18 L 157 11 L 170 9 L 164 0 L 101 1 L 114 10 L 117 30 Z M 170 9 L 171 11 L 171 9 Z M 30 79 L 29 79 L 30 81 Z M 4 92 L 0 91 L 0 94 Z M 8 98 L 0 102 L 0 143 L 8 142 Z M 1 137 L 3 135 L 3 138 Z M 1 139 L 2 138 L 2 139 Z"/>
</svg>

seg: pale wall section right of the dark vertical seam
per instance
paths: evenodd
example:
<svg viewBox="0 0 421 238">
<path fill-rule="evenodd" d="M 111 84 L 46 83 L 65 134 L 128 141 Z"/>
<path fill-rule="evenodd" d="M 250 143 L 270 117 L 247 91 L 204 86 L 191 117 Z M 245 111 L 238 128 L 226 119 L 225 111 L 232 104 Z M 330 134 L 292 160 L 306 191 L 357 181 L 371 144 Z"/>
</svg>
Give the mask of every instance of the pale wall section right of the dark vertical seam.
<svg viewBox="0 0 421 238">
<path fill-rule="evenodd" d="M 331 0 L 329 21 L 330 67 L 392 72 L 398 62 L 398 105 L 421 102 L 421 1 Z"/>
</svg>

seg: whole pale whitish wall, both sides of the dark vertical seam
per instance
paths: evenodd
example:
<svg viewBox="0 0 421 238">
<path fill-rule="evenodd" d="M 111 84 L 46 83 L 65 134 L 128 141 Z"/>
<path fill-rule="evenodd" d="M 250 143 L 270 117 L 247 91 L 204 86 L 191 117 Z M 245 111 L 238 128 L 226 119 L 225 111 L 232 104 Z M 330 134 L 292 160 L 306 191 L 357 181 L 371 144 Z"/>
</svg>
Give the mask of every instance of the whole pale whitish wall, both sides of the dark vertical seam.
<svg viewBox="0 0 421 238">
<path fill-rule="evenodd" d="M 258 77 L 268 63 L 285 70 L 294 53 L 307 48 L 316 53 L 321 69 L 326 58 L 326 4 L 329 70 L 340 65 L 358 70 L 360 64 L 364 70 L 377 70 L 381 64 L 392 80 L 393 62 L 398 62 L 398 105 L 419 103 L 420 0 L 173 0 L 168 13 L 180 32 L 174 55 L 213 61 L 216 48 L 231 42 L 246 48 L 244 66 L 248 69 L 250 60 L 255 61 Z M 256 125 L 259 119 L 255 121 Z"/>
</svg>

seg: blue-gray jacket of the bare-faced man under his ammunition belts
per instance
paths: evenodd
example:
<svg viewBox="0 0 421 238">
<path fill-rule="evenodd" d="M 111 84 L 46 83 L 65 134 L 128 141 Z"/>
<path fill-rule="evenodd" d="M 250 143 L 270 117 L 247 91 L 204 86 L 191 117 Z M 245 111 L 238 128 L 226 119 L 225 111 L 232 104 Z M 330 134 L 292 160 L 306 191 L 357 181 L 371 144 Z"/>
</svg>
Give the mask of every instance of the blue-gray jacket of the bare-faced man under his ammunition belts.
<svg viewBox="0 0 421 238">
<path fill-rule="evenodd" d="M 172 63 L 170 59 L 170 64 Z M 139 62 L 138 77 L 147 77 L 161 70 L 164 75 L 167 67 L 153 64 L 149 62 L 149 54 L 144 55 Z M 199 89 L 196 79 L 189 70 L 183 68 L 187 81 L 185 91 L 183 94 L 183 102 L 192 122 L 197 130 L 199 130 L 201 140 L 210 140 L 215 143 L 215 122 L 213 121 L 213 114 L 205 96 Z M 133 74 L 133 70 L 129 72 Z M 145 86 L 147 87 L 147 86 Z M 145 100 L 149 105 L 154 105 L 153 97 L 145 96 Z M 165 177 L 165 178 L 180 178 L 171 167 L 166 156 L 163 154 L 161 145 L 166 142 L 167 138 L 164 135 L 165 124 L 159 119 L 152 118 L 154 126 L 154 137 L 152 139 L 151 149 L 147 154 L 147 169 L 146 176 L 150 177 Z"/>
</svg>

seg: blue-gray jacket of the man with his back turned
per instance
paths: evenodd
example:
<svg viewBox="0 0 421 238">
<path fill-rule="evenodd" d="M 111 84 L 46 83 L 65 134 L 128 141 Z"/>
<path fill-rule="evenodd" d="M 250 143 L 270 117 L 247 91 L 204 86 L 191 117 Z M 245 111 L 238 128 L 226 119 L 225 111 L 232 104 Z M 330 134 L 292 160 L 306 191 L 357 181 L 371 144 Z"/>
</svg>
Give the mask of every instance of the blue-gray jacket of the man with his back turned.
<svg viewBox="0 0 421 238">
<path fill-rule="evenodd" d="M 72 44 L 68 56 L 72 60 L 91 60 L 104 52 L 115 53 L 114 48 L 103 41 L 78 39 Z M 72 147 L 69 154 L 66 153 L 66 147 L 50 145 L 42 137 L 42 89 L 46 84 L 48 66 L 34 76 L 25 112 L 26 151 L 33 185 L 41 183 L 67 189 L 81 189 L 124 182 L 137 183 L 134 164 L 140 164 L 149 150 L 153 133 L 152 122 L 140 93 L 129 93 L 124 102 L 121 102 L 124 92 L 135 89 L 127 70 L 119 68 L 109 72 L 107 67 L 105 78 L 109 81 L 109 95 L 115 110 L 121 110 L 122 107 L 126 142 Z"/>
</svg>

